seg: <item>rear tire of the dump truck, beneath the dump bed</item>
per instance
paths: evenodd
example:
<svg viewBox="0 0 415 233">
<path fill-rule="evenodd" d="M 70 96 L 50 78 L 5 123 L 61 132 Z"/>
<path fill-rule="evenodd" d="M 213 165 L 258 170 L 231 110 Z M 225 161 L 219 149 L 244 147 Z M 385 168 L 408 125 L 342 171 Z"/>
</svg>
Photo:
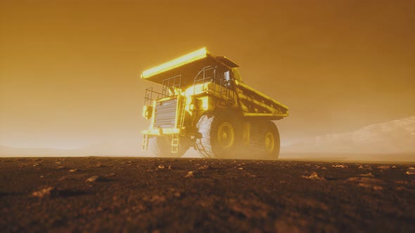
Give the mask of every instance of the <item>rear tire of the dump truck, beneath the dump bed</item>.
<svg viewBox="0 0 415 233">
<path fill-rule="evenodd" d="M 278 159 L 281 142 L 279 131 L 272 121 L 253 122 L 248 152 L 257 159 Z"/>
</svg>

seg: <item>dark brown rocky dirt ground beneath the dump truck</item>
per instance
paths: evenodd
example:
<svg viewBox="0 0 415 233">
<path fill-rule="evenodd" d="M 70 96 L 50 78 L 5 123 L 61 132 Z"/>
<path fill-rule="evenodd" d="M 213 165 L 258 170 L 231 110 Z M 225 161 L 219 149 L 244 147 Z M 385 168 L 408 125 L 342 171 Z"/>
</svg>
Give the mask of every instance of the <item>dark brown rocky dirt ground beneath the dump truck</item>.
<svg viewBox="0 0 415 233">
<path fill-rule="evenodd" d="M 0 231 L 415 232 L 414 166 L 0 158 Z"/>
</svg>

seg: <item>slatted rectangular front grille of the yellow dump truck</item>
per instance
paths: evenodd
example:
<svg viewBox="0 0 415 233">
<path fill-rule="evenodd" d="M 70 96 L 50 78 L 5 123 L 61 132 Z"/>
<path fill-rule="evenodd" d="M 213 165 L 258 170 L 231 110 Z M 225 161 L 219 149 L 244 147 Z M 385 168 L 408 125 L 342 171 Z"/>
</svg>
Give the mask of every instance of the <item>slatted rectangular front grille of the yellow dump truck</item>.
<svg viewBox="0 0 415 233">
<path fill-rule="evenodd" d="M 154 128 L 174 128 L 177 99 L 157 102 L 155 105 Z"/>
</svg>

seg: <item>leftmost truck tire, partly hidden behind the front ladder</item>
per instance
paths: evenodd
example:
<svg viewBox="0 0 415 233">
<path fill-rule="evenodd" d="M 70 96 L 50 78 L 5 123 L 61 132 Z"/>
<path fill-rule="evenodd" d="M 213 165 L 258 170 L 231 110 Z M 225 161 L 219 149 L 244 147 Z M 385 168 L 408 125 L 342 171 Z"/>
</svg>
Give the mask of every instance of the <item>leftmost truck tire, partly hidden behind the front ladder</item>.
<svg viewBox="0 0 415 233">
<path fill-rule="evenodd" d="M 156 157 L 178 158 L 191 146 L 190 138 L 180 137 L 177 153 L 172 153 L 172 136 L 158 136 L 148 139 L 148 148 Z"/>
</svg>

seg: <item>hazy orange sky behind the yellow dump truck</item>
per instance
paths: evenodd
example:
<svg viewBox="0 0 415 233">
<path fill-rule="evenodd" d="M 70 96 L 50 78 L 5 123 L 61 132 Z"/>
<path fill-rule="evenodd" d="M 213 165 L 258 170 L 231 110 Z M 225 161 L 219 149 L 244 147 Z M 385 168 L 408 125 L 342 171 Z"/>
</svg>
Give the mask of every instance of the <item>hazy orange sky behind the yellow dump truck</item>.
<svg viewBox="0 0 415 233">
<path fill-rule="evenodd" d="M 0 0 L 0 145 L 137 140 L 144 69 L 206 46 L 283 102 L 281 140 L 415 114 L 415 1 Z"/>
</svg>

